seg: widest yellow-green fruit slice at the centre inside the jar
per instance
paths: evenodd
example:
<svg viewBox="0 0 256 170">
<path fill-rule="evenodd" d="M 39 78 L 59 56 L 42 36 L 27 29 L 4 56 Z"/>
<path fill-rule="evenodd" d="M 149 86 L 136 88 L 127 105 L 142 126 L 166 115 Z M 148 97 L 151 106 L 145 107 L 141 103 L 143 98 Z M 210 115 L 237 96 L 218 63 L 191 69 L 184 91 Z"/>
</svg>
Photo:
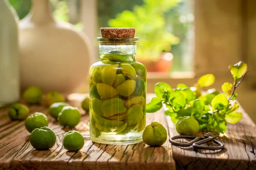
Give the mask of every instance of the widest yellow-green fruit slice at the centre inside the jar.
<svg viewBox="0 0 256 170">
<path fill-rule="evenodd" d="M 111 99 L 107 99 L 102 103 L 101 110 L 103 112 L 104 117 L 110 117 L 115 114 L 125 113 L 127 108 L 124 106 L 125 102 L 122 99 L 117 97 L 113 97 Z"/>
</svg>

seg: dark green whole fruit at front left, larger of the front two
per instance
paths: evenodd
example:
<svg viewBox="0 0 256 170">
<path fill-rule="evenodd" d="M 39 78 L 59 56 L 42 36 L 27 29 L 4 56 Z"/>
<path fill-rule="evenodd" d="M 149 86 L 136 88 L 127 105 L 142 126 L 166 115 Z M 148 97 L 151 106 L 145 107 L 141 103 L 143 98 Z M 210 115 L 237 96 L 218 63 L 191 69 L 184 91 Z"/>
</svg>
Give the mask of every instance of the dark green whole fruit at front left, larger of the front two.
<svg viewBox="0 0 256 170">
<path fill-rule="evenodd" d="M 31 132 L 29 140 L 36 150 L 48 150 L 54 146 L 56 135 L 49 127 L 41 127 Z"/>
</svg>

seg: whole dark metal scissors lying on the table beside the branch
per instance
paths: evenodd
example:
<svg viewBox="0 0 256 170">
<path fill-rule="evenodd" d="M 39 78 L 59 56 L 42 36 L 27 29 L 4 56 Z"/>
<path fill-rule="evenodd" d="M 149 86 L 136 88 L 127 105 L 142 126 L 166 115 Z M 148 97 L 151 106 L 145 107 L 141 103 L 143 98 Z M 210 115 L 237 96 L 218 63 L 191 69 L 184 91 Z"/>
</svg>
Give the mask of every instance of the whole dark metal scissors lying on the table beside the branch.
<svg viewBox="0 0 256 170">
<path fill-rule="evenodd" d="M 212 133 L 206 133 L 204 137 L 197 137 L 197 136 L 186 136 L 186 135 L 179 135 L 179 136 L 173 136 L 169 139 L 169 142 L 176 146 L 182 146 L 182 147 L 189 147 L 193 146 L 195 149 L 206 149 L 206 150 L 219 150 L 219 149 L 224 149 L 225 146 L 223 143 L 219 142 L 216 140 L 218 135 L 212 135 Z M 175 139 L 193 139 L 190 142 L 177 142 Z M 218 146 L 203 146 L 201 144 L 207 143 L 213 141 L 215 144 L 218 144 Z"/>
</svg>

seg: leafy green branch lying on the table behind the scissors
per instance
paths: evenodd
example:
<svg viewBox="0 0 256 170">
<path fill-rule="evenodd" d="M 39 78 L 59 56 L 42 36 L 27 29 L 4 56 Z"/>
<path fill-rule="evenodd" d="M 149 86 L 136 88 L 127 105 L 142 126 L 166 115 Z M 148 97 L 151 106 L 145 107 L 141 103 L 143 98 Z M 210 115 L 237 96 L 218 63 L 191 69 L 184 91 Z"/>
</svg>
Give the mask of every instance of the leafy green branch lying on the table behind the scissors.
<svg viewBox="0 0 256 170">
<path fill-rule="evenodd" d="M 248 73 L 247 64 L 238 62 L 229 66 L 234 78 L 233 85 L 225 82 L 220 94 L 215 89 L 209 89 L 201 94 L 201 89 L 209 87 L 215 81 L 213 74 L 206 74 L 200 77 L 196 87 L 189 88 L 185 84 L 178 84 L 172 88 L 164 82 L 155 85 L 154 92 L 157 95 L 147 104 L 147 113 L 154 113 L 160 110 L 163 105 L 167 110 L 165 114 L 170 116 L 172 122 L 183 116 L 192 116 L 197 120 L 200 130 L 224 133 L 227 123 L 235 124 L 242 118 L 242 113 L 236 112 L 239 104 L 231 102 L 236 99 L 236 88 L 241 84 Z"/>
</svg>

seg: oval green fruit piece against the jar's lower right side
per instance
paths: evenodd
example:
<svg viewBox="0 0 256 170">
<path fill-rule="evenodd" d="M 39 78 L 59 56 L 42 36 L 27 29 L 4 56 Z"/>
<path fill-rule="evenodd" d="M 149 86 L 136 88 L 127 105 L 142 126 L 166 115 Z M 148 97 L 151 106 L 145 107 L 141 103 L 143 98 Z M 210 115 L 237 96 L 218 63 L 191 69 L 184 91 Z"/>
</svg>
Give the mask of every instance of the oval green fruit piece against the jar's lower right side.
<svg viewBox="0 0 256 170">
<path fill-rule="evenodd" d="M 136 104 L 128 109 L 127 117 L 125 120 L 128 125 L 137 125 L 142 119 L 143 115 L 143 106 L 140 104 Z"/>
</svg>

